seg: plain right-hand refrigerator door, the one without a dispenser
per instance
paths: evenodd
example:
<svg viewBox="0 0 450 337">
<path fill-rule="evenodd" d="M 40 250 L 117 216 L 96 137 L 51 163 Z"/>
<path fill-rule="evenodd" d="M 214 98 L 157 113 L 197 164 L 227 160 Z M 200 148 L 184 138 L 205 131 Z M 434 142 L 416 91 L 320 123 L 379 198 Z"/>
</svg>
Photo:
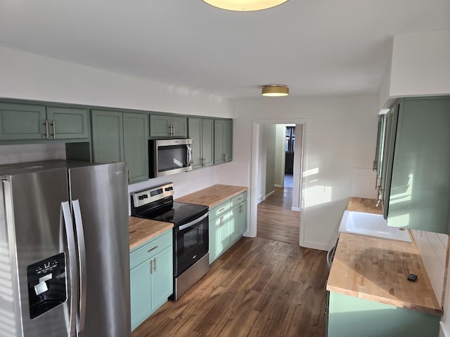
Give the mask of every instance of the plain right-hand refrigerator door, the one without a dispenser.
<svg viewBox="0 0 450 337">
<path fill-rule="evenodd" d="M 79 336 L 131 336 L 127 166 L 69 169 L 80 251 Z"/>
</svg>

